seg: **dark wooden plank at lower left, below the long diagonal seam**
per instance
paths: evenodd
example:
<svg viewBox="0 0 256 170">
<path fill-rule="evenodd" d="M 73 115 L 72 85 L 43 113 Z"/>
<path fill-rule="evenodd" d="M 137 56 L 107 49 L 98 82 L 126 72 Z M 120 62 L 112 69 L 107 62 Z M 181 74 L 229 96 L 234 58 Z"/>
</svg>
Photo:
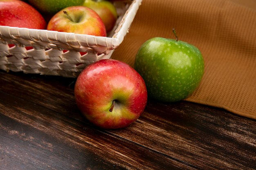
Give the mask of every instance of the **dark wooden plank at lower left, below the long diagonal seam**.
<svg viewBox="0 0 256 170">
<path fill-rule="evenodd" d="M 15 160 L 25 169 L 179 168 L 175 159 L 1 92 L 0 113 L 2 169 Z"/>
</svg>

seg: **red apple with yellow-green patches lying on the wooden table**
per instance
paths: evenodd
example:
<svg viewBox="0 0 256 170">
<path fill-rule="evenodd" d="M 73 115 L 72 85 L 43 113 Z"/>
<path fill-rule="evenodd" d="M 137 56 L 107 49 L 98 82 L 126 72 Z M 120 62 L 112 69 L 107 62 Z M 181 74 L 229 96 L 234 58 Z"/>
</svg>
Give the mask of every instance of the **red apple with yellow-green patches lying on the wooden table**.
<svg viewBox="0 0 256 170">
<path fill-rule="evenodd" d="M 105 129 L 124 128 L 139 118 L 147 102 L 142 77 L 124 62 L 99 60 L 76 80 L 76 104 L 92 124 Z"/>
</svg>

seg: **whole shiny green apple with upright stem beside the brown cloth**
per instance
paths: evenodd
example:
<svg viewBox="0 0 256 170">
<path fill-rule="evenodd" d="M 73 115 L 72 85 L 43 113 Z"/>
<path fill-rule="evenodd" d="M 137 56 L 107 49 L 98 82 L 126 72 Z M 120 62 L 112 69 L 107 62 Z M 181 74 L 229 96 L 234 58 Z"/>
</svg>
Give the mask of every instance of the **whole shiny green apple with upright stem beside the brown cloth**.
<svg viewBox="0 0 256 170">
<path fill-rule="evenodd" d="M 191 95 L 204 73 L 199 49 L 175 36 L 176 40 L 147 40 L 135 58 L 135 70 L 143 77 L 148 96 L 162 102 L 177 102 Z"/>
</svg>

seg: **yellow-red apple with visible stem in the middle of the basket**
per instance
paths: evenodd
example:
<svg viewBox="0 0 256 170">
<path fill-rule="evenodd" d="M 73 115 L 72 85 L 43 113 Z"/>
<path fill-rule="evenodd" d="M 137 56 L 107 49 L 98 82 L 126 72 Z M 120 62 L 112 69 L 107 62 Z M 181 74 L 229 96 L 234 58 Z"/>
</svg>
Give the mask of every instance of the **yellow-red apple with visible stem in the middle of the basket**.
<svg viewBox="0 0 256 170">
<path fill-rule="evenodd" d="M 47 30 L 106 37 L 106 28 L 99 15 L 88 7 L 72 6 L 56 13 Z"/>
</svg>

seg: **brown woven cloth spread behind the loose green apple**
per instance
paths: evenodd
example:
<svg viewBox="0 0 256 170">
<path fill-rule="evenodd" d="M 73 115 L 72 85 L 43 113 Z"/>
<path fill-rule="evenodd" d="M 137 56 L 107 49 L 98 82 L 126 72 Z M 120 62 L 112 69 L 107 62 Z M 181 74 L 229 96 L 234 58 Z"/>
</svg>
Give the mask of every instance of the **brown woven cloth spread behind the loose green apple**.
<svg viewBox="0 0 256 170">
<path fill-rule="evenodd" d="M 146 40 L 173 38 L 200 49 L 205 73 L 186 100 L 256 119 L 256 1 L 144 0 L 113 59 L 134 66 Z"/>
</svg>

